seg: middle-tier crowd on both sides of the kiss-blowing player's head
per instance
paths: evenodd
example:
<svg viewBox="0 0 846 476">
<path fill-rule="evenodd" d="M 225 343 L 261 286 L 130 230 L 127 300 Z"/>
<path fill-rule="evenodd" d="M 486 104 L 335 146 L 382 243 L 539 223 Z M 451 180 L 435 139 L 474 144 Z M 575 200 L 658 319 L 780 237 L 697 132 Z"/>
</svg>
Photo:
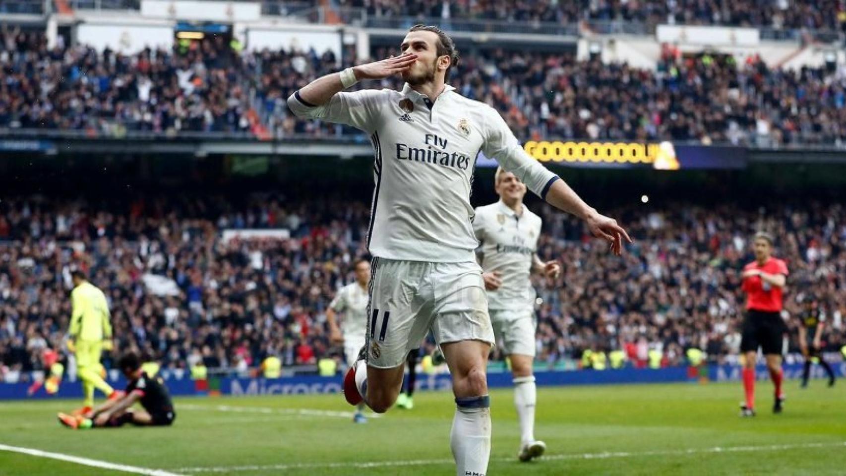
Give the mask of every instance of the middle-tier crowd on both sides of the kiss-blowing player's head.
<svg viewBox="0 0 846 476">
<path fill-rule="evenodd" d="M 61 42 L 47 48 L 43 35 L 8 29 L 3 44 L 0 129 L 366 140 L 354 129 L 295 118 L 285 105 L 310 79 L 354 64 L 352 49 L 339 62 L 332 52 L 236 52 L 216 38 L 123 55 Z M 390 52 L 376 48 L 373 56 Z M 520 140 L 846 144 L 844 68 L 783 71 L 755 57 L 681 57 L 667 48 L 652 71 L 493 49 L 464 55 L 449 82 L 497 107 Z"/>
</svg>

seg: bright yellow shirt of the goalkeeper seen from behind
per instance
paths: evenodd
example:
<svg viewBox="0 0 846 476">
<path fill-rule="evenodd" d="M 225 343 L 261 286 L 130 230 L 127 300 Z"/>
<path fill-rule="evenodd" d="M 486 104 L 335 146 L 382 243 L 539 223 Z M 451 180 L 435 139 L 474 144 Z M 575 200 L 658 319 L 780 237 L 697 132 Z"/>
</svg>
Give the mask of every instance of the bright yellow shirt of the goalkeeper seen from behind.
<svg viewBox="0 0 846 476">
<path fill-rule="evenodd" d="M 70 336 L 80 341 L 102 341 L 112 338 L 106 295 L 91 284 L 83 282 L 70 293 L 73 314 L 70 319 Z"/>
</svg>

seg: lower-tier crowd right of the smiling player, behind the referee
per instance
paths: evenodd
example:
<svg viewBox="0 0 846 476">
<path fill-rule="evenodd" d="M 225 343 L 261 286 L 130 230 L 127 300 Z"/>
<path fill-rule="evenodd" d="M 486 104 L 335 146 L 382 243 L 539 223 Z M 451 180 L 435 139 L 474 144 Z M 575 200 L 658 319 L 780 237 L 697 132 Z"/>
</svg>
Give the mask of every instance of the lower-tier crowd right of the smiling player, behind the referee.
<svg viewBox="0 0 846 476">
<path fill-rule="evenodd" d="M 639 366 L 657 351 L 662 364 L 684 363 L 696 347 L 713 362 L 736 362 L 744 317 L 741 271 L 754 257 L 750 237 L 776 237 L 776 257 L 788 265 L 785 310 L 790 352 L 799 349 L 799 300 L 815 297 L 827 315 L 824 352 L 846 345 L 846 209 L 778 206 L 744 211 L 677 205 L 662 211 L 614 213 L 634 244 L 611 258 L 585 238 L 574 218 L 540 209 L 545 233 L 540 254 L 563 265 L 557 286 L 536 286 L 537 350 L 550 364 L 585 349 L 619 349 Z"/>
</svg>

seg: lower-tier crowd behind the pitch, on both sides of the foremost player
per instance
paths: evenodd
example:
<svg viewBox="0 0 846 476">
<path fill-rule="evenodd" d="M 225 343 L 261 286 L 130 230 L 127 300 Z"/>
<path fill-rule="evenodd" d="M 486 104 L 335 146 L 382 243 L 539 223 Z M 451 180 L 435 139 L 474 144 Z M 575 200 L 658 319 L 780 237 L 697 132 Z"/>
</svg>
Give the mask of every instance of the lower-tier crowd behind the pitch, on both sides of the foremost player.
<svg viewBox="0 0 846 476">
<path fill-rule="evenodd" d="M 580 223 L 547 206 L 535 210 L 546 223 L 539 253 L 563 264 L 557 282 L 535 282 L 542 299 L 536 347 L 549 365 L 579 360 L 585 349 L 620 349 L 640 366 L 650 350 L 663 365 L 684 362 L 689 347 L 711 360 L 736 356 L 739 270 L 751 260 L 748 239 L 757 229 L 776 235 L 777 255 L 788 262 L 789 312 L 815 294 L 831 324 L 826 348 L 846 343 L 842 205 L 621 209 L 613 215 L 635 239 L 621 258 Z M 338 352 L 325 311 L 353 279 L 355 258 L 365 256 L 368 218 L 365 202 L 293 205 L 272 194 L 3 200 L 0 363 L 7 375 L 19 375 L 40 368 L 45 347 L 63 348 L 69 274 L 80 269 L 110 300 L 118 352 L 139 350 L 165 369 L 202 362 L 245 371 L 268 355 L 286 366 L 314 364 Z M 290 238 L 222 238 L 223 230 L 244 228 L 284 228 Z"/>
</svg>

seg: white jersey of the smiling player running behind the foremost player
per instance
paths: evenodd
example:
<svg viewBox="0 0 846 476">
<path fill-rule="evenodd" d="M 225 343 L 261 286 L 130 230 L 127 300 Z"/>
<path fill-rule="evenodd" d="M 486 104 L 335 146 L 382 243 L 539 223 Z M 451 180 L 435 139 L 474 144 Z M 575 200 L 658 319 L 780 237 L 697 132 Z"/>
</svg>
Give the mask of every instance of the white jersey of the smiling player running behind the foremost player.
<svg viewBox="0 0 846 476">
<path fill-rule="evenodd" d="M 473 229 L 481 242 L 481 268 L 502 273 L 503 285 L 488 291 L 490 309 L 519 309 L 531 306 L 535 289 L 531 287 L 532 258 L 541 234 L 541 217 L 525 205 L 517 216 L 502 200 L 475 210 Z"/>
</svg>

